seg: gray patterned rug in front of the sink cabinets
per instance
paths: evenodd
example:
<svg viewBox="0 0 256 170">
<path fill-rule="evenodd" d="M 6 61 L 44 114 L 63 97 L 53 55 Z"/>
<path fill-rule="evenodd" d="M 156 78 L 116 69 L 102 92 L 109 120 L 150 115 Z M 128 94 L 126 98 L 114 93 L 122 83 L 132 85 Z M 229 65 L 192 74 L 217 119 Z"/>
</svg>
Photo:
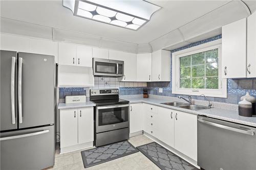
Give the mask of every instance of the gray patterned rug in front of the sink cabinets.
<svg viewBox="0 0 256 170">
<path fill-rule="evenodd" d="M 163 148 L 156 142 L 137 147 L 148 159 L 164 170 L 195 170 L 198 169 L 174 153 Z"/>
</svg>

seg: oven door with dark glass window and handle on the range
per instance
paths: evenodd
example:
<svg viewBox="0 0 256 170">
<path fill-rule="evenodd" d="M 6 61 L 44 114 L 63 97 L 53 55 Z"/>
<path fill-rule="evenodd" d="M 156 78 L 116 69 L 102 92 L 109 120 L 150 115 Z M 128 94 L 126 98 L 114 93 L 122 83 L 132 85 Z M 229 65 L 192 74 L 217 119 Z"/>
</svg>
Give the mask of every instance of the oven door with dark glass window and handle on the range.
<svg viewBox="0 0 256 170">
<path fill-rule="evenodd" d="M 96 107 L 96 133 L 129 127 L 130 105 Z"/>
</svg>

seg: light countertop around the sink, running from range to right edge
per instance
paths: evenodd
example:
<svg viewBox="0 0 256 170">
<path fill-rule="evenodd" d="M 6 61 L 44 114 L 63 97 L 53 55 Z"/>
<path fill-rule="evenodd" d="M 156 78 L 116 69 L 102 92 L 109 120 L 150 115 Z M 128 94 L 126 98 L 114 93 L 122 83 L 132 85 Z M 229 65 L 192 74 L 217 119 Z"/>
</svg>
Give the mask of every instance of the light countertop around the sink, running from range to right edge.
<svg viewBox="0 0 256 170">
<path fill-rule="evenodd" d="M 150 98 L 143 98 L 143 96 L 135 96 L 133 97 L 132 95 L 124 95 L 124 96 L 119 96 L 120 99 L 123 100 L 127 100 L 130 101 L 130 104 L 134 104 L 134 103 L 147 103 L 147 104 L 152 104 L 152 105 L 156 105 L 156 106 L 161 106 L 161 107 L 165 107 L 165 108 L 169 108 L 169 109 L 174 109 L 174 110 L 178 110 L 178 111 L 183 111 L 183 112 L 187 112 L 187 113 L 191 113 L 191 114 L 197 114 L 197 115 L 205 115 L 208 117 L 212 117 L 212 118 L 218 118 L 221 120 L 226 120 L 229 122 L 234 122 L 234 123 L 238 123 L 238 124 L 243 124 L 243 125 L 248 125 L 248 126 L 252 126 L 252 127 L 256 127 L 256 115 L 254 115 L 253 117 L 244 117 L 244 116 L 240 116 L 238 115 L 238 111 L 237 110 L 227 110 L 227 109 L 220 109 L 220 108 L 211 108 L 211 109 L 204 109 L 204 110 L 188 110 L 188 109 L 184 109 L 184 108 L 179 108 L 179 107 L 174 107 L 174 106 L 168 106 L 168 105 L 164 105 L 161 103 L 165 103 L 165 102 L 178 102 L 180 100 L 178 100 L 177 98 L 154 98 L 154 97 L 150 97 Z M 185 101 L 182 101 L 185 102 Z M 225 104 L 225 103 L 224 103 Z"/>
</svg>

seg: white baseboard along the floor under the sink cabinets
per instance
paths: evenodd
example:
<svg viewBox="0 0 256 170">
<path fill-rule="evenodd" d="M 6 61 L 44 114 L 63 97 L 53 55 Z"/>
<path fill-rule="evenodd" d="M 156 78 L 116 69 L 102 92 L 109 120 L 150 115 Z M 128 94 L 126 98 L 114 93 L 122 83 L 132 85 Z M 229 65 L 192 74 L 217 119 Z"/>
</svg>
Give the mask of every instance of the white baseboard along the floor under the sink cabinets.
<svg viewBox="0 0 256 170">
<path fill-rule="evenodd" d="M 157 142 L 158 144 L 162 145 L 164 148 L 166 148 L 167 150 L 169 150 L 170 152 L 173 152 L 174 154 L 178 155 L 179 157 L 181 157 L 182 159 L 184 159 L 185 161 L 191 163 L 192 165 L 196 166 L 197 168 L 200 169 L 200 166 L 197 165 L 197 161 L 195 161 L 194 159 L 189 158 L 188 156 L 182 154 L 181 152 L 177 151 L 176 149 L 174 149 L 173 147 L 170 147 L 168 144 L 162 142 L 161 140 L 159 140 L 158 138 L 152 136 L 151 134 L 148 134 L 146 132 L 143 132 L 143 134 L 152 139 L 153 141 Z"/>
</svg>

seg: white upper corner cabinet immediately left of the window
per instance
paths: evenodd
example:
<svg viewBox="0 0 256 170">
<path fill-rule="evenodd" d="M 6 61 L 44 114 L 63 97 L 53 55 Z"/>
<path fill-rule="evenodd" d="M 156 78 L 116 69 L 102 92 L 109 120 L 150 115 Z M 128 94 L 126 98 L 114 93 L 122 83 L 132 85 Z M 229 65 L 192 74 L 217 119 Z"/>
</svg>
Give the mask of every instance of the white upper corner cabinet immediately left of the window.
<svg viewBox="0 0 256 170">
<path fill-rule="evenodd" d="M 170 81 L 170 51 L 159 50 L 152 53 L 152 81 Z"/>
</svg>

